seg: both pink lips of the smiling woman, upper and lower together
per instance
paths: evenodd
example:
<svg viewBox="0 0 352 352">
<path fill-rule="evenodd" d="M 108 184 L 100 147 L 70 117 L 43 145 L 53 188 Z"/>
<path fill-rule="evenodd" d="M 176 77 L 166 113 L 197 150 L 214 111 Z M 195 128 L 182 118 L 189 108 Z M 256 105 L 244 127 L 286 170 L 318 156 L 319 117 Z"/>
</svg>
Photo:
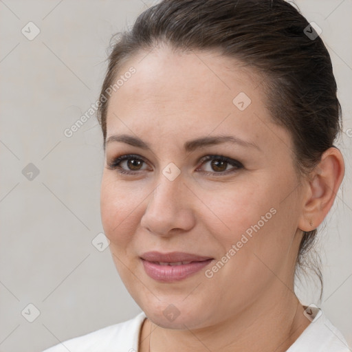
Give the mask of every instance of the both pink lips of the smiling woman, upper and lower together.
<svg viewBox="0 0 352 352">
<path fill-rule="evenodd" d="M 140 257 L 146 274 L 155 281 L 170 283 L 181 281 L 206 267 L 213 258 L 184 252 L 146 252 Z M 163 265 L 159 263 L 191 262 L 180 265 Z"/>
</svg>

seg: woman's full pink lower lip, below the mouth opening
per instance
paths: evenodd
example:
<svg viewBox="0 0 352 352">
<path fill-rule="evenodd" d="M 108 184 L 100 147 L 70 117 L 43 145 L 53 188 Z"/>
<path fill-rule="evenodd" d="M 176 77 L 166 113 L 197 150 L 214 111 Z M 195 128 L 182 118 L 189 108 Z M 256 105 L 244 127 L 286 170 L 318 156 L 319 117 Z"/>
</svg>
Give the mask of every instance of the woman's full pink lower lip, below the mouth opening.
<svg viewBox="0 0 352 352">
<path fill-rule="evenodd" d="M 189 264 L 171 266 L 159 265 L 157 263 L 142 259 L 146 274 L 154 280 L 164 283 L 184 280 L 184 278 L 188 278 L 188 276 L 199 272 L 199 270 L 206 267 L 206 265 L 208 265 L 211 261 L 212 259 L 208 259 L 207 261 L 195 261 Z"/>
</svg>

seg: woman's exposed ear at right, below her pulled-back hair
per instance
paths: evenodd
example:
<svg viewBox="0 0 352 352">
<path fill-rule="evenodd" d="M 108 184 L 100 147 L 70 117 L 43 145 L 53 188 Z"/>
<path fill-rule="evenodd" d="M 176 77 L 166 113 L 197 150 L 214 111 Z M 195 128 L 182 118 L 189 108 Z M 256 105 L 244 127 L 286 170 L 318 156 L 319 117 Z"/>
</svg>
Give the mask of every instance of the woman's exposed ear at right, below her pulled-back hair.
<svg viewBox="0 0 352 352">
<path fill-rule="evenodd" d="M 344 177 L 344 159 L 336 147 L 322 153 L 319 164 L 309 174 L 303 211 L 298 228 L 309 232 L 318 228 L 325 219 Z"/>
</svg>

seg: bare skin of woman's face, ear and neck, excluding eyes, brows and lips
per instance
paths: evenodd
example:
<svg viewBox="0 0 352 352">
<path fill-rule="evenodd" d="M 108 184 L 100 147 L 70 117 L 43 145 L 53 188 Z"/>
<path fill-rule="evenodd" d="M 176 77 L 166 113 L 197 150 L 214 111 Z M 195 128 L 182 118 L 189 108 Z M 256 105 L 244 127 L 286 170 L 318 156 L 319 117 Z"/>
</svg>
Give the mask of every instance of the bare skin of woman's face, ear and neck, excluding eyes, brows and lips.
<svg viewBox="0 0 352 352">
<path fill-rule="evenodd" d="M 133 135 L 151 151 L 107 143 L 100 205 L 117 270 L 148 317 L 140 351 L 149 344 L 151 351 L 286 351 L 309 325 L 294 294 L 299 243 L 333 204 L 344 174 L 340 152 L 330 148 L 308 177 L 298 177 L 292 137 L 265 107 L 263 77 L 234 59 L 162 46 L 131 58 L 120 73 L 131 66 L 135 74 L 109 101 L 107 139 Z M 244 111 L 232 103 L 242 91 L 252 100 Z M 257 148 L 226 142 L 184 151 L 186 141 L 208 135 L 232 135 Z M 144 161 L 132 168 L 135 175 L 109 168 L 130 153 Z M 206 155 L 243 168 L 212 168 L 199 162 Z M 173 181 L 162 173 L 170 162 L 181 171 Z M 219 175 L 224 170 L 234 172 Z M 205 270 L 214 263 L 175 283 L 144 272 L 140 256 L 151 250 L 216 263 L 272 208 L 271 219 L 212 278 Z M 179 311 L 173 321 L 163 314 L 170 304 Z"/>
</svg>

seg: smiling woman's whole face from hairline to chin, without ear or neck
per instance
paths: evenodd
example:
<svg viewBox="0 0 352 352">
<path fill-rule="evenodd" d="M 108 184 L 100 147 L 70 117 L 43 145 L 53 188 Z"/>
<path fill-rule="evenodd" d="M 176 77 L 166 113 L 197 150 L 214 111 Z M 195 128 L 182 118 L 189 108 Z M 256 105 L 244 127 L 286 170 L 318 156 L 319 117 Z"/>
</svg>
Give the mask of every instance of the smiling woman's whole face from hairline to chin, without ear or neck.
<svg viewBox="0 0 352 352">
<path fill-rule="evenodd" d="M 292 294 L 303 194 L 262 78 L 233 59 L 166 47 L 119 75 L 101 214 L 137 304 L 162 327 L 200 328 Z"/>
</svg>

